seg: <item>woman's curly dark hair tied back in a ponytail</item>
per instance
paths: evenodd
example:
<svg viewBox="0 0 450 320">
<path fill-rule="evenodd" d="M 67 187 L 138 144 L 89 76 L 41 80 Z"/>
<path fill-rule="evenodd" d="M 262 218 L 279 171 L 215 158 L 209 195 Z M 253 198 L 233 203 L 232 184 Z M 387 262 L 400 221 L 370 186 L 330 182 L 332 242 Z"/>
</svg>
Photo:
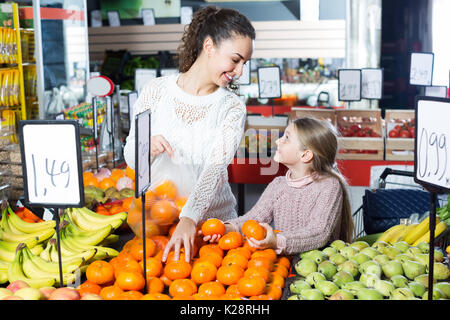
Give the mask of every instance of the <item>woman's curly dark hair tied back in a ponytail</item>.
<svg viewBox="0 0 450 320">
<path fill-rule="evenodd" d="M 181 45 L 178 48 L 179 71 L 186 72 L 200 55 L 206 37 L 215 45 L 235 35 L 255 39 L 255 29 L 250 20 L 239 11 L 216 6 L 207 6 L 196 11 L 192 21 L 185 27 Z M 230 89 L 236 89 L 230 83 Z"/>
</svg>

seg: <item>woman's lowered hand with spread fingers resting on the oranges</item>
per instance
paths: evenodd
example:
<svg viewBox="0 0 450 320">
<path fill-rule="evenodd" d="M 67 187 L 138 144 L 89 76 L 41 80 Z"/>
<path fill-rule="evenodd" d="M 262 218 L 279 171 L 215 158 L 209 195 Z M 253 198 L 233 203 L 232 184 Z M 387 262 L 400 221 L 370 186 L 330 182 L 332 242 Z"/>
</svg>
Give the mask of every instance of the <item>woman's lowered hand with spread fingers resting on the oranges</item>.
<svg viewBox="0 0 450 320">
<path fill-rule="evenodd" d="M 162 261 L 166 262 L 167 256 L 169 255 L 169 252 L 172 248 L 174 248 L 175 252 L 174 260 L 178 260 L 180 258 L 181 244 L 183 244 L 185 260 L 186 262 L 189 262 L 192 258 L 195 231 L 196 225 L 194 220 L 187 217 L 180 218 L 175 231 L 173 232 L 169 242 L 164 249 Z"/>
</svg>

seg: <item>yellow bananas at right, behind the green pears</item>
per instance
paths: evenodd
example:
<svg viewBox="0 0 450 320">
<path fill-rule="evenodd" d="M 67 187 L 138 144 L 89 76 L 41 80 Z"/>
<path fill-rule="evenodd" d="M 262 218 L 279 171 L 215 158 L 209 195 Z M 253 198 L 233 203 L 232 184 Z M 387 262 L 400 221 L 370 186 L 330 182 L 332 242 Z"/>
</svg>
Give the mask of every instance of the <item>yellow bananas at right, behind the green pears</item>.
<svg viewBox="0 0 450 320">
<path fill-rule="evenodd" d="M 416 224 L 398 224 L 386 230 L 377 241 L 384 241 L 390 244 L 399 241 L 405 241 L 409 245 L 416 246 L 420 242 L 429 242 L 430 240 L 430 217 L 426 217 L 420 223 Z M 441 221 L 439 216 L 436 216 L 436 228 L 434 231 L 435 237 L 439 236 L 447 230 L 447 223 Z"/>
</svg>

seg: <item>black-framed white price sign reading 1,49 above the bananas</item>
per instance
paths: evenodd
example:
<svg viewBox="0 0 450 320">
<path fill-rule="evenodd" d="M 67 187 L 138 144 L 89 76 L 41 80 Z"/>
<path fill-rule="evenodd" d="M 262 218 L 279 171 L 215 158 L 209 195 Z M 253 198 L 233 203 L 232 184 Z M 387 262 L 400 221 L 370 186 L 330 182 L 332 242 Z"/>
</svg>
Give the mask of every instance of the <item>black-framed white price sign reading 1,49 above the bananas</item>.
<svg viewBox="0 0 450 320">
<path fill-rule="evenodd" d="M 75 120 L 19 122 L 25 204 L 84 205 L 80 127 Z"/>
</svg>

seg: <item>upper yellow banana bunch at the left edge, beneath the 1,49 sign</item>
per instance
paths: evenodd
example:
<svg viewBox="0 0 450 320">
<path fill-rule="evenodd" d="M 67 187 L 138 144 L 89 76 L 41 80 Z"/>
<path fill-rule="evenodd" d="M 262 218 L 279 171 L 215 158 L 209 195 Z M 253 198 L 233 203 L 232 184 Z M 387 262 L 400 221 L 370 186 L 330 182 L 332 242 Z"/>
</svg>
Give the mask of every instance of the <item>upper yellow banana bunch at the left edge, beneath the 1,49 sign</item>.
<svg viewBox="0 0 450 320">
<path fill-rule="evenodd" d="M 55 221 L 23 221 L 9 206 L 3 207 L 0 219 L 0 284 L 10 280 L 9 269 L 18 259 L 17 248 L 25 246 L 32 254 L 40 254 L 45 241 L 55 234 L 55 225 Z"/>
</svg>

